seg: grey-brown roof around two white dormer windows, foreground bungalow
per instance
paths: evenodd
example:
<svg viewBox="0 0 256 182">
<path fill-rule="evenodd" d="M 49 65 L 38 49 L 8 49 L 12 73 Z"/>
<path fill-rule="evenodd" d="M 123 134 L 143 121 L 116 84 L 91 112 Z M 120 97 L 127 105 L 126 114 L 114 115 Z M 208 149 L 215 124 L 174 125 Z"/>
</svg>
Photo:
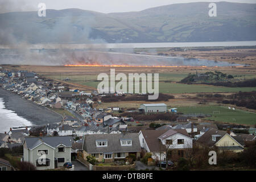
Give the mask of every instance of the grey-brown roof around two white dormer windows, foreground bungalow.
<svg viewBox="0 0 256 182">
<path fill-rule="evenodd" d="M 131 146 L 121 146 L 120 139 L 131 139 Z M 97 147 L 96 140 L 108 140 L 108 146 Z M 141 152 L 139 135 L 137 133 L 125 134 L 96 134 L 85 135 L 83 149 L 89 154 L 106 152 Z"/>
</svg>

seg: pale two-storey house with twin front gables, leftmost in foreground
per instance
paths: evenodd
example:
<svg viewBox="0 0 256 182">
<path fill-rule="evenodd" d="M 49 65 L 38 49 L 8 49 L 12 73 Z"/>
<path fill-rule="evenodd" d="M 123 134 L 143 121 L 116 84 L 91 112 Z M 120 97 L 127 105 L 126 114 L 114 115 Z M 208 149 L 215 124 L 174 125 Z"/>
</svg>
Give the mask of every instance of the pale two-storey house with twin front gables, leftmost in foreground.
<svg viewBox="0 0 256 182">
<path fill-rule="evenodd" d="M 73 139 L 64 137 L 26 137 L 23 142 L 23 161 L 30 162 L 38 170 L 63 167 L 71 162 Z"/>
</svg>

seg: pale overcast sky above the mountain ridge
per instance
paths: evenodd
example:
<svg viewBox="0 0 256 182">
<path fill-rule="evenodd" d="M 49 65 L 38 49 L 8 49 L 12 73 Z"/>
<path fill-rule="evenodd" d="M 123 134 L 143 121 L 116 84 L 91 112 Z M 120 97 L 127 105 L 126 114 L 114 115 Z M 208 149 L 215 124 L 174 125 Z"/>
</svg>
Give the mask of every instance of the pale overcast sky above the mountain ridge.
<svg viewBox="0 0 256 182">
<path fill-rule="evenodd" d="M 47 9 L 78 8 L 98 11 L 101 13 L 115 13 L 127 11 L 141 11 L 150 7 L 187 2 L 217 2 L 208 0 L 0 0 L 0 13 L 10 11 L 36 11 L 38 4 L 46 3 Z M 228 0 L 228 2 L 256 3 L 256 0 Z"/>
</svg>

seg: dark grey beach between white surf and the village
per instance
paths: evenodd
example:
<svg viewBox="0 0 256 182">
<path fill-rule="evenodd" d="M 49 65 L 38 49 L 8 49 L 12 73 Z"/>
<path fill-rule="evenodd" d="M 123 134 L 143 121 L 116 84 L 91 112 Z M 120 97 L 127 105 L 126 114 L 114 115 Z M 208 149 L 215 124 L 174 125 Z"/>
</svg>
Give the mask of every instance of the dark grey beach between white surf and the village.
<svg viewBox="0 0 256 182">
<path fill-rule="evenodd" d="M 9 90 L 0 88 L 0 97 L 3 99 L 6 109 L 12 110 L 19 117 L 27 119 L 31 122 L 31 126 L 60 122 L 63 119 L 61 115 L 44 106 L 28 101 Z"/>
</svg>

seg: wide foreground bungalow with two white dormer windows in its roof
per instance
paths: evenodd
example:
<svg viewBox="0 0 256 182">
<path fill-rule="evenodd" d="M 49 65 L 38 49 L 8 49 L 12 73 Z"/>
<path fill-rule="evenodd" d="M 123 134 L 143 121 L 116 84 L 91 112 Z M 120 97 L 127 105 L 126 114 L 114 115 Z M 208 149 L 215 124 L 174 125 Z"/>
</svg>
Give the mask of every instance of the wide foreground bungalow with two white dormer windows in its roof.
<svg viewBox="0 0 256 182">
<path fill-rule="evenodd" d="M 141 145 L 137 133 L 85 135 L 82 144 L 84 159 L 93 155 L 98 162 L 113 162 L 125 159 L 130 154 L 141 155 Z"/>
</svg>

